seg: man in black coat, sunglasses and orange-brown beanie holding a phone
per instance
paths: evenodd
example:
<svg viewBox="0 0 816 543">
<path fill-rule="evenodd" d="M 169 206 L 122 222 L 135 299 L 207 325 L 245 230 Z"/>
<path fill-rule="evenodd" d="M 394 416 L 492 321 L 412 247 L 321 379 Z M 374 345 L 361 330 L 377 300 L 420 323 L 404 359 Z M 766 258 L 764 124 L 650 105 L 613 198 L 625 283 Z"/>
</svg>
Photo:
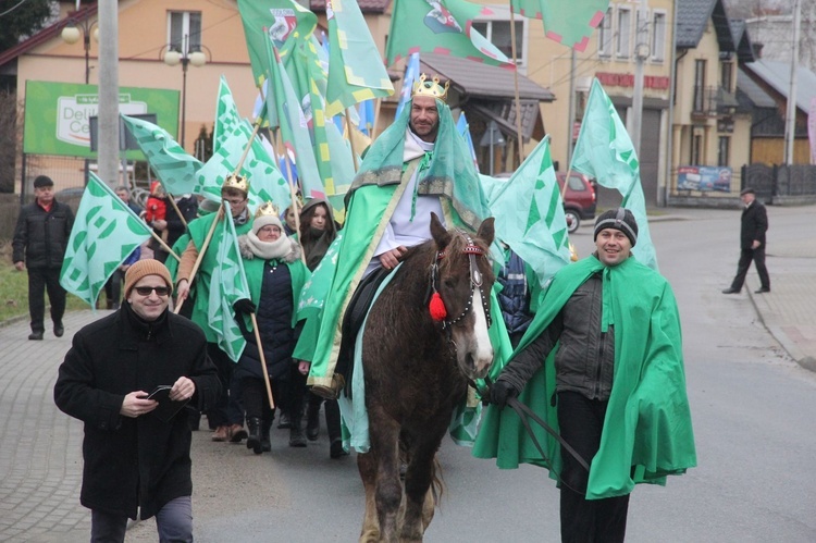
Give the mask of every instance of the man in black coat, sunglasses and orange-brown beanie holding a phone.
<svg viewBox="0 0 816 543">
<path fill-rule="evenodd" d="M 85 422 L 81 502 L 91 509 L 91 541 L 124 541 L 137 507 L 143 519 L 156 516 L 160 541 L 193 541 L 191 433 L 181 407 L 207 409 L 221 385 L 201 329 L 168 310 L 172 291 L 161 262 L 133 264 L 120 310 L 77 332 L 60 366 L 54 402 Z M 169 395 L 148 399 L 160 386 Z"/>
</svg>

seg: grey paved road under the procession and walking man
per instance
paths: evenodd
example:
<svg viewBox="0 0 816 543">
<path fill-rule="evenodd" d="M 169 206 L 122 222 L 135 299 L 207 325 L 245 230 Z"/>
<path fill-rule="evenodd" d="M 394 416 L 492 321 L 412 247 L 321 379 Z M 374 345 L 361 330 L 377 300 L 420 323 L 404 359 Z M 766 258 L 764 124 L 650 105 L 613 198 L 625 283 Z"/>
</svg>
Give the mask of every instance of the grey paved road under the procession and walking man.
<svg viewBox="0 0 816 543">
<path fill-rule="evenodd" d="M 816 386 L 792 363 L 806 367 L 816 355 L 814 211 L 769 208 L 774 292 L 764 296 L 719 294 L 737 264 L 738 211 L 672 210 L 664 218 L 671 224 L 654 221 L 664 273 L 681 303 L 701 467 L 667 489 L 635 492 L 629 541 L 654 541 L 655 533 L 690 542 L 770 541 L 763 535 L 769 533 L 779 534 L 777 541 L 816 540 L 816 527 L 803 520 L 816 503 L 812 489 L 803 489 L 811 470 L 800 466 L 812 456 L 807 410 L 816 407 L 809 399 Z M 683 239 L 687 234 L 694 239 Z M 588 254 L 591 229 L 582 227 L 576 240 Z M 716 248 L 697 252 L 695 243 Z M 749 281 L 756 288 L 753 272 Z M 97 317 L 71 313 L 66 336 L 47 333 L 44 342 L 26 341 L 26 322 L 0 328 L 0 541 L 88 539 L 89 515 L 78 504 L 82 424 L 57 410 L 51 391 L 71 332 Z M 751 410 L 740 407 L 746 402 Z M 767 414 L 755 404 L 768 406 Z M 807 435 L 798 436 L 803 424 Z M 273 447 L 256 457 L 211 443 L 206 431 L 194 434 L 197 540 L 353 541 L 362 508 L 354 457 L 330 460 L 324 430 L 306 449 L 287 447 L 286 433 L 275 431 Z M 448 445 L 442 461 L 448 491 L 428 541 L 557 539 L 557 492 L 541 470 L 499 472 Z M 154 540 L 151 521 L 128 531 L 128 541 Z"/>
</svg>

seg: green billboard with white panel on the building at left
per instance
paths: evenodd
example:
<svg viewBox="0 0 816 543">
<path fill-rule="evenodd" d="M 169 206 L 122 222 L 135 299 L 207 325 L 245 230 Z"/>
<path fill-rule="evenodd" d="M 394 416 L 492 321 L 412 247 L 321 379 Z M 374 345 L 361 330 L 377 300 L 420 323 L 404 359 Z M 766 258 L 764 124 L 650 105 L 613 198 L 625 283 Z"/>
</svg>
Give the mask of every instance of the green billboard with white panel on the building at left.
<svg viewBox="0 0 816 543">
<path fill-rule="evenodd" d="M 119 88 L 119 111 L 126 115 L 156 114 L 156 124 L 178 133 L 178 90 Z M 96 85 L 35 82 L 25 84 L 23 152 L 95 159 L 90 150 L 90 118 L 99 111 Z M 126 151 L 128 160 L 145 160 L 139 150 Z"/>
</svg>

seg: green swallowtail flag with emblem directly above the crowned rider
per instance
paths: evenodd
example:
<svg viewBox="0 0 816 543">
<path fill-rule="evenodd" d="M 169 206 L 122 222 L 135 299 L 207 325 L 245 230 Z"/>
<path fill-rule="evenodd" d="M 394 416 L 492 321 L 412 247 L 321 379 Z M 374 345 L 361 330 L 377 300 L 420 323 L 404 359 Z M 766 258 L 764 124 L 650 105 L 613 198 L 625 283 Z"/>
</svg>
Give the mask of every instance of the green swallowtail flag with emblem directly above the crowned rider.
<svg viewBox="0 0 816 543">
<path fill-rule="evenodd" d="M 493 11 L 466 0 L 395 0 L 385 64 L 413 52 L 449 54 L 515 70 L 512 62 L 473 28 Z"/>
</svg>

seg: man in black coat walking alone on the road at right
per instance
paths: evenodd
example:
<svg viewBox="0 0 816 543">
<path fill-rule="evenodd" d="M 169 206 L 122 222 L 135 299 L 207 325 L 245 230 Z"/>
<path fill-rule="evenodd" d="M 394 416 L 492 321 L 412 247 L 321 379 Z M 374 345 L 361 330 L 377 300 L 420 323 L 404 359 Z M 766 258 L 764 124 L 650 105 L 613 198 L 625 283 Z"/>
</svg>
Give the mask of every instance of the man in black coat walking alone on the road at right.
<svg viewBox="0 0 816 543">
<path fill-rule="evenodd" d="M 737 264 L 737 275 L 731 286 L 722 294 L 737 294 L 742 289 L 751 261 L 756 266 L 759 274 L 759 289 L 756 294 L 770 292 L 770 277 L 765 268 L 765 232 L 768 230 L 768 213 L 759 201 L 753 188 L 745 188 L 740 193 L 740 199 L 745 205 L 742 211 L 742 227 L 740 229 L 740 262 Z"/>
</svg>

